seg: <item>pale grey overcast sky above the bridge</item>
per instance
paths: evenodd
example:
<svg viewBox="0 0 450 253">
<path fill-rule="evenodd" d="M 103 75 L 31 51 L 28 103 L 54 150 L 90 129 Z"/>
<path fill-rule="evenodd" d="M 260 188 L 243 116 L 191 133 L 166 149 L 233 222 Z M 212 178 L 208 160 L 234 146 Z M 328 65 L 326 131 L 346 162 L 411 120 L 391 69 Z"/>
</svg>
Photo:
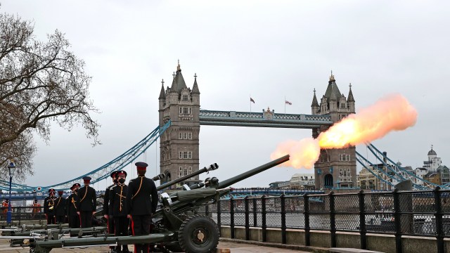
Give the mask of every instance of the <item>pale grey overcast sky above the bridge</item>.
<svg viewBox="0 0 450 253">
<path fill-rule="evenodd" d="M 389 93 L 418 110 L 418 122 L 373 142 L 388 157 L 413 168 L 430 146 L 450 165 L 449 1 L 1 1 L 1 12 L 34 20 L 34 34 L 60 30 L 84 59 L 91 99 L 101 110 L 103 145 L 91 147 L 84 129 L 53 126 L 34 157 L 25 183 L 47 186 L 113 160 L 158 126 L 161 79 L 171 83 L 179 59 L 188 87 L 197 73 L 205 110 L 252 111 L 270 107 L 311 114 L 330 70 L 345 96 L 349 83 L 356 112 Z M 200 127 L 200 168 L 228 179 L 270 161 L 282 141 L 311 136 L 310 129 Z M 159 171 L 158 145 L 140 160 L 148 176 Z M 366 151 L 364 145 L 357 151 Z M 375 162 L 375 160 L 373 160 Z M 360 168 L 359 164 L 358 167 Z M 129 177 L 135 176 L 129 165 Z M 133 172 L 131 172 L 133 171 Z M 304 169 L 273 168 L 236 187 L 266 187 Z M 205 176 L 200 176 L 205 179 Z M 105 188 L 110 182 L 97 184 Z"/>
</svg>

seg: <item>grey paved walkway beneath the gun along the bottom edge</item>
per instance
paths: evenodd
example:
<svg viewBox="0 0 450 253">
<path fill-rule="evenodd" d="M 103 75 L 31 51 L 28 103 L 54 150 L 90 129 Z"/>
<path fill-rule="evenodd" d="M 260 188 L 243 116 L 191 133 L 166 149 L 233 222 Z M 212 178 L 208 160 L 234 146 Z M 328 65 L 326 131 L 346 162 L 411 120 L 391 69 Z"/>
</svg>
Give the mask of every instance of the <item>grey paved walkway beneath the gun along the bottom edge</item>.
<svg viewBox="0 0 450 253">
<path fill-rule="evenodd" d="M 130 251 L 133 250 L 133 246 L 129 245 Z M 297 252 L 297 253 L 310 253 L 310 252 L 302 252 L 293 249 L 280 249 L 276 247 L 264 247 L 257 245 L 250 245 L 246 243 L 236 243 L 236 242 L 219 242 L 218 248 L 228 248 L 231 253 L 245 253 L 245 252 L 265 252 L 265 253 L 288 253 L 288 252 Z M 29 247 L 9 247 L 9 242 L 7 240 L 0 240 L 0 253 L 29 253 Z M 51 253 L 108 253 L 108 247 L 90 247 L 86 249 L 52 249 Z"/>
</svg>

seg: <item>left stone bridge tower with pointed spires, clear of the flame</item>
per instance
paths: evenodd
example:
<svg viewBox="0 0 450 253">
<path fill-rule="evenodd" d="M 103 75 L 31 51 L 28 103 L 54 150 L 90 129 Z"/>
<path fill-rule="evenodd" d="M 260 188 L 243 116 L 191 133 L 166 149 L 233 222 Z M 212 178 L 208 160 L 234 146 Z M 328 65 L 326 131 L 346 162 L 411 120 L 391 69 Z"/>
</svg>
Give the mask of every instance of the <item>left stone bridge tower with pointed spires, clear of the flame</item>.
<svg viewBox="0 0 450 253">
<path fill-rule="evenodd" d="M 194 75 L 192 89 L 186 86 L 181 67 L 178 62 L 173 74 L 172 86 L 164 89 L 164 80 L 160 91 L 159 124 L 171 120 L 171 125 L 160 136 L 160 173 L 166 178 L 161 182 L 172 181 L 181 176 L 198 171 L 200 132 L 200 91 L 198 90 L 197 74 Z M 189 186 L 198 183 L 198 176 L 181 184 Z"/>
</svg>

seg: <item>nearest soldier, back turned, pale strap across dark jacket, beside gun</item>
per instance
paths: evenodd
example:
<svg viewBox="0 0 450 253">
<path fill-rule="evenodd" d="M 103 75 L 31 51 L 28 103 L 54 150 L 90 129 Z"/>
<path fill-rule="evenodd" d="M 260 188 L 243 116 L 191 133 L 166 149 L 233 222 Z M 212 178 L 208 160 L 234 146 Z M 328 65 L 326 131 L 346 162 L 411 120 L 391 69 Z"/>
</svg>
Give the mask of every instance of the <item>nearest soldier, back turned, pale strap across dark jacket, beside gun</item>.
<svg viewBox="0 0 450 253">
<path fill-rule="evenodd" d="M 136 162 L 138 177 L 131 179 L 128 184 L 127 205 L 131 218 L 133 235 L 150 234 L 151 214 L 158 206 L 158 191 L 155 182 L 146 178 L 147 166 L 145 162 Z M 135 253 L 147 253 L 148 244 L 135 244 Z"/>
</svg>

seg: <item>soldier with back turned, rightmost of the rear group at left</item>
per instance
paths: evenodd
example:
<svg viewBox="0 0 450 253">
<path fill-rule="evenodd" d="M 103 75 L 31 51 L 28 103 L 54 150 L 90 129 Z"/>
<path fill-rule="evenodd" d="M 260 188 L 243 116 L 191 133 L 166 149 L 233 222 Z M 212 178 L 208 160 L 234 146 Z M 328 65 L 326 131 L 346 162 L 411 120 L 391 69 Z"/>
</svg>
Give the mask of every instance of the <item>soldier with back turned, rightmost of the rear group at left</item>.
<svg viewBox="0 0 450 253">
<path fill-rule="evenodd" d="M 83 181 L 84 187 L 77 190 L 77 195 L 79 197 L 77 214 L 79 214 L 82 228 L 91 228 L 92 216 L 96 213 L 97 207 L 96 190 L 89 186 L 89 183 L 91 183 L 90 176 L 84 176 Z"/>
</svg>

